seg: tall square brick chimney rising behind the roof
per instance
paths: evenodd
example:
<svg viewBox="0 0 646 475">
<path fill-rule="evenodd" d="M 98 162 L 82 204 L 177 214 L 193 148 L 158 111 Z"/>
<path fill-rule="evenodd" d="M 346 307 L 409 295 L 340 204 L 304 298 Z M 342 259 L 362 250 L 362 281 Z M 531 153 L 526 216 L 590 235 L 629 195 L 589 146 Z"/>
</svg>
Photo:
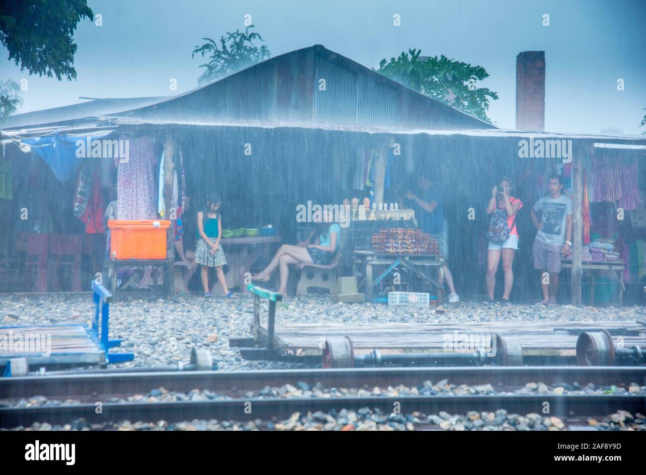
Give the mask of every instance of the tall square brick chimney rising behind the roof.
<svg viewBox="0 0 646 475">
<path fill-rule="evenodd" d="M 516 129 L 545 131 L 545 51 L 516 56 Z"/>
</svg>

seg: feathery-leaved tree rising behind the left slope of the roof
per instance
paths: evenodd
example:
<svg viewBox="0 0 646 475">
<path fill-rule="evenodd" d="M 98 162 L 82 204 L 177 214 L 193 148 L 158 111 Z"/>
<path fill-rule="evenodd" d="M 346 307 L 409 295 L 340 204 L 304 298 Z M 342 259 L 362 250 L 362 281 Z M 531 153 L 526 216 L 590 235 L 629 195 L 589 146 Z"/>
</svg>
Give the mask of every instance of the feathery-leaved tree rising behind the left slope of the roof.
<svg viewBox="0 0 646 475">
<path fill-rule="evenodd" d="M 202 38 L 207 43 L 200 47 L 196 46 L 191 54 L 191 58 L 195 58 L 196 54 L 201 54 L 202 57 L 210 55 L 209 62 L 200 65 L 201 68 L 206 68 L 200 76 L 200 84 L 223 78 L 271 56 L 269 48 L 264 45 L 258 48 L 253 44 L 255 39 L 260 41 L 264 41 L 264 39 L 256 32 L 250 33 L 250 28 L 255 28 L 255 26 L 247 26 L 244 33 L 239 30 L 235 30 L 233 33 L 227 32 L 228 37 L 220 37 L 221 47 L 211 38 Z"/>
</svg>

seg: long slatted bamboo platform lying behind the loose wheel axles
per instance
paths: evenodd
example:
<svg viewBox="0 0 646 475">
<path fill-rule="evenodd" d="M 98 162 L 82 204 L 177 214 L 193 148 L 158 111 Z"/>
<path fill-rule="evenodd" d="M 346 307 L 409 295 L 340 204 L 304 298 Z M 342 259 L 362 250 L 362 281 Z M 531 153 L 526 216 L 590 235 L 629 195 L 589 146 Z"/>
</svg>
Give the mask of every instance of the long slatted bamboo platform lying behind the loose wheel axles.
<svg viewBox="0 0 646 475">
<path fill-rule="evenodd" d="M 274 349 L 282 354 L 320 354 L 322 339 L 348 335 L 355 350 L 442 350 L 447 339 L 458 335 L 513 335 L 523 348 L 523 356 L 574 357 L 576 341 L 582 332 L 605 328 L 615 345 L 638 344 L 646 348 L 646 324 L 636 321 L 541 321 L 541 322 L 461 322 L 455 324 L 276 324 Z M 267 328 L 260 326 L 266 341 Z"/>
</svg>

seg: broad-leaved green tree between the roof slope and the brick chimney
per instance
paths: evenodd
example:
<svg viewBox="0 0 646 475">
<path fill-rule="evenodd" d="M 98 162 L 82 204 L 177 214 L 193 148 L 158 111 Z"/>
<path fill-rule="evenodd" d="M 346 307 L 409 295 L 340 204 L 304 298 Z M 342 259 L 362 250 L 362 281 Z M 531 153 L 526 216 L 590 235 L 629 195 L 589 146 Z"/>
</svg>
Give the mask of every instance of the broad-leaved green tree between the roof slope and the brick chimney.
<svg viewBox="0 0 646 475">
<path fill-rule="evenodd" d="M 398 58 L 379 61 L 374 71 L 387 78 L 417 90 L 422 94 L 448 104 L 455 109 L 492 123 L 487 117 L 489 100 L 496 100 L 498 94 L 486 87 L 476 87 L 475 81 L 488 78 L 481 66 L 472 66 L 446 56 L 419 59 L 422 50 L 410 49 Z"/>
</svg>

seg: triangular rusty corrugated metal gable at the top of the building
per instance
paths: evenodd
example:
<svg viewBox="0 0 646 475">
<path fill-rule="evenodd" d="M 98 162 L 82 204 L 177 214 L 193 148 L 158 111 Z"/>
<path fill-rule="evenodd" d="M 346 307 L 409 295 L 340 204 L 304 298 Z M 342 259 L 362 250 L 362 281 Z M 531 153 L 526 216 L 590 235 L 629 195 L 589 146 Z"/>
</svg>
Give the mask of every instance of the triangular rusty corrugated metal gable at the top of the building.
<svg viewBox="0 0 646 475">
<path fill-rule="evenodd" d="M 320 86 L 325 79 L 325 90 Z M 299 120 L 495 129 L 320 45 L 118 116 L 167 121 Z"/>
</svg>

